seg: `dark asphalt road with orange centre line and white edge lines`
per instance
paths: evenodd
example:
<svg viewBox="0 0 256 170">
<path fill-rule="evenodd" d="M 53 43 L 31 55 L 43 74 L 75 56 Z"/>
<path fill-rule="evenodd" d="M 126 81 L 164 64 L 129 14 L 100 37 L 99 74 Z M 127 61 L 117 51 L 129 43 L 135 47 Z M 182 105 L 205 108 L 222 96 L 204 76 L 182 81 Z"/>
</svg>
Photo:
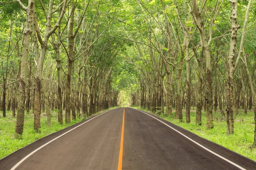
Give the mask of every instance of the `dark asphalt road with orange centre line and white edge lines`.
<svg viewBox="0 0 256 170">
<path fill-rule="evenodd" d="M 132 108 L 117 108 L 39 139 L 0 170 L 255 170 L 256 162 Z"/>
</svg>

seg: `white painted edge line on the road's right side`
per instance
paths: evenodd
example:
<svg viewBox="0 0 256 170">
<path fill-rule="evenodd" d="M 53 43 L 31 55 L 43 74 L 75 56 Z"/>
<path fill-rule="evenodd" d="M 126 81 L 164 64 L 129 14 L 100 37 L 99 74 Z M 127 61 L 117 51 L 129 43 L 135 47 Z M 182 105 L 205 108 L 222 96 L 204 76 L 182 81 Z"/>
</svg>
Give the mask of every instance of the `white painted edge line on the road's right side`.
<svg viewBox="0 0 256 170">
<path fill-rule="evenodd" d="M 140 111 L 140 110 L 138 110 L 138 109 L 135 109 L 135 110 Z M 140 112 L 145 113 L 145 112 L 143 112 L 143 111 L 140 111 Z M 151 115 L 148 114 L 148 113 L 145 113 L 145 114 L 147 114 L 148 116 L 151 116 Z M 215 152 L 213 152 L 212 150 L 209 150 L 208 148 L 204 147 L 203 145 L 199 144 L 198 142 L 195 142 L 193 139 L 191 139 L 191 138 L 189 138 L 188 136 L 184 135 L 183 133 L 181 133 L 180 131 L 176 130 L 175 128 L 173 128 L 173 127 L 167 125 L 165 122 L 160 121 L 159 119 L 155 118 L 154 116 L 151 116 L 151 117 L 153 117 L 154 119 L 156 119 L 156 120 L 158 120 L 159 122 L 163 123 L 164 125 L 170 127 L 172 130 L 175 130 L 177 133 L 180 133 L 180 134 L 181 134 L 182 136 L 184 136 L 186 139 L 189 139 L 190 141 L 192 141 L 192 142 L 194 142 L 195 144 L 197 144 L 198 146 L 204 148 L 205 150 L 207 150 L 208 152 L 212 153 L 213 155 L 218 156 L 219 158 L 223 159 L 224 161 L 227 161 L 227 162 L 230 163 L 230 164 L 233 164 L 234 166 L 238 167 L 240 170 L 246 170 L 246 169 L 244 169 L 243 167 L 239 166 L 238 164 L 234 163 L 233 161 L 230 161 L 230 160 L 224 158 L 223 156 L 220 156 L 218 153 L 215 153 Z"/>
</svg>

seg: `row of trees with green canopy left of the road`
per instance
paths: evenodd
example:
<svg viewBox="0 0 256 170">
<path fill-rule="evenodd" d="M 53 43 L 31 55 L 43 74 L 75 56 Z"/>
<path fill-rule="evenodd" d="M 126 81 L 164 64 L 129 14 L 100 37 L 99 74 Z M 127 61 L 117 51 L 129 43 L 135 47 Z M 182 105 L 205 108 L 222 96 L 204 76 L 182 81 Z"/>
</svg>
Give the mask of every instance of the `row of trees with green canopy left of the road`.
<svg viewBox="0 0 256 170">
<path fill-rule="evenodd" d="M 116 1 L 117 2 L 117 1 Z M 1 110 L 12 108 L 15 138 L 23 133 L 24 112 L 34 114 L 34 130 L 41 128 L 41 112 L 51 126 L 85 118 L 117 105 L 113 88 L 120 69 L 116 55 L 124 41 L 118 34 L 115 1 L 16 0 L 0 1 Z M 12 105 L 12 107 L 11 107 Z"/>
</svg>

